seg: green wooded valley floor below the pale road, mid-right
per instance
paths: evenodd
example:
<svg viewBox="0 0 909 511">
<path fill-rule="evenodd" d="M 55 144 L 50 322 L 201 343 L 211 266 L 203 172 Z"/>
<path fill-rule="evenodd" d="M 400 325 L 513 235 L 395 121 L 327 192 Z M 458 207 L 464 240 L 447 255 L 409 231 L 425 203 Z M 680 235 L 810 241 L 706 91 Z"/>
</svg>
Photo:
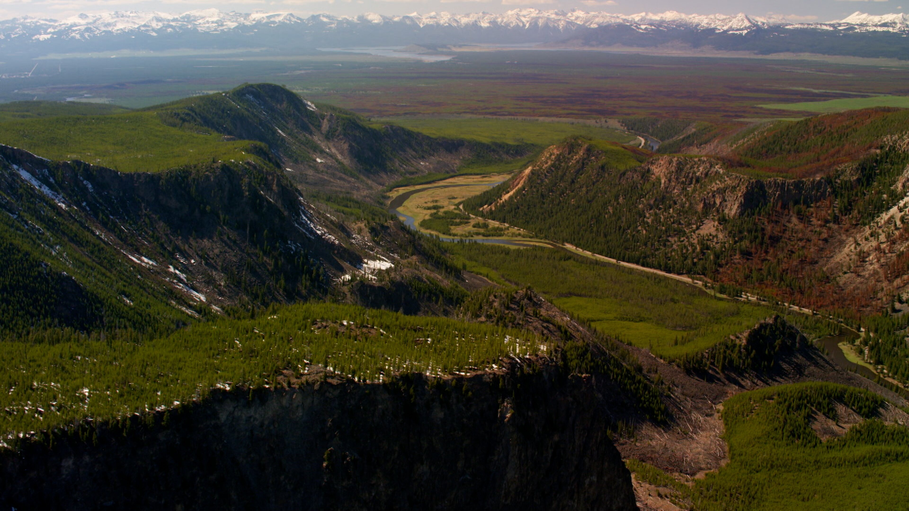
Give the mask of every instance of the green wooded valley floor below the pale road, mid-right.
<svg viewBox="0 0 909 511">
<path fill-rule="evenodd" d="M 769 307 L 714 298 L 682 282 L 562 249 L 446 247 L 465 269 L 503 284 L 531 286 L 600 332 L 665 358 L 703 351 L 774 315 Z"/>
</svg>

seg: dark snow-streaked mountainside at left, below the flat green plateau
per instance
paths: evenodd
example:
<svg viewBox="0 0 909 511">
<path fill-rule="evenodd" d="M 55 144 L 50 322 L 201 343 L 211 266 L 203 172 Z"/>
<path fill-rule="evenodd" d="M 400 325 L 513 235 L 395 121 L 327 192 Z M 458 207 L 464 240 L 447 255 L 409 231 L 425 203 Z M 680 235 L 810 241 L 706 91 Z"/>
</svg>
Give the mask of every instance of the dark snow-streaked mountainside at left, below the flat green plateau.
<svg viewBox="0 0 909 511">
<path fill-rule="evenodd" d="M 3 146 L 0 157 L 6 336 L 56 336 L 56 327 L 161 334 L 232 307 L 344 295 L 346 286 L 370 296 L 395 282 L 397 295 L 435 304 L 453 271 L 385 212 L 307 199 L 268 165 L 121 174 Z M 396 269 L 400 258 L 419 265 Z"/>
</svg>

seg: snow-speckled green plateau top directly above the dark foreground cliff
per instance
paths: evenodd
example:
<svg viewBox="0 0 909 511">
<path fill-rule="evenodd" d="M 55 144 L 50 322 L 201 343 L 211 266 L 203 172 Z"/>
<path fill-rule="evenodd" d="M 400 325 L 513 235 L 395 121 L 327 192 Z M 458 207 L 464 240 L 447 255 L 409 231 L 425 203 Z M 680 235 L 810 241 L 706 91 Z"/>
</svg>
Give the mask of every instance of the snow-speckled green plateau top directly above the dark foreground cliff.
<svg viewBox="0 0 909 511">
<path fill-rule="evenodd" d="M 78 335 L 54 344 L 8 341 L 0 343 L 9 369 L 0 373 L 0 432 L 163 410 L 215 386 L 274 386 L 282 370 L 305 376 L 313 365 L 375 382 L 398 372 L 486 368 L 549 347 L 513 329 L 331 304 L 273 307 L 142 343 Z"/>
</svg>

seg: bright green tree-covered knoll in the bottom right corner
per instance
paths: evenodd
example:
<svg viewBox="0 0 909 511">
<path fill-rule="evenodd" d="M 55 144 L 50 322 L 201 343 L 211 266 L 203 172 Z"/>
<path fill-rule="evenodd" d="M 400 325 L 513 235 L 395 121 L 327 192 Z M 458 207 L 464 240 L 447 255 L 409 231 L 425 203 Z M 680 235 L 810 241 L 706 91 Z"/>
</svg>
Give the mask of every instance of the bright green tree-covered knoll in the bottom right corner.
<svg viewBox="0 0 909 511">
<path fill-rule="evenodd" d="M 812 426 L 843 421 L 837 404 L 866 420 L 822 439 Z M 905 509 L 909 431 L 881 420 L 884 405 L 881 396 L 829 383 L 745 392 L 724 402 L 729 463 L 716 472 L 689 486 L 636 460 L 627 465 L 697 511 Z"/>
</svg>

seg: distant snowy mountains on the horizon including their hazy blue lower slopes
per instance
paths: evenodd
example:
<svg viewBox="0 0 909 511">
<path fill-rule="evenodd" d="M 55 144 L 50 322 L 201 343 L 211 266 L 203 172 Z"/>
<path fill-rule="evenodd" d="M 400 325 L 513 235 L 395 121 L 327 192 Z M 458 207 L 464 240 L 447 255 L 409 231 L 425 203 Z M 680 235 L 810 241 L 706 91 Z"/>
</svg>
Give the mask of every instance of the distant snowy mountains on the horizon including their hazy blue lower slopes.
<svg viewBox="0 0 909 511">
<path fill-rule="evenodd" d="M 868 15 L 856 12 L 842 20 L 794 23 L 783 17 L 738 15 L 686 15 L 675 11 L 615 15 L 604 12 L 514 9 L 504 14 L 356 16 L 291 13 L 236 13 L 217 9 L 183 14 L 115 11 L 76 15 L 63 20 L 19 17 L 0 21 L 0 48 L 5 51 L 54 52 L 112 51 L 119 49 L 272 47 L 315 49 L 358 45 L 409 45 L 419 43 L 553 43 L 575 35 L 607 31 L 633 35 L 679 33 L 754 36 L 765 33 L 830 35 L 905 35 L 909 18 L 904 14 Z M 627 39 L 627 37 L 625 37 Z M 684 40 L 685 37 L 682 37 Z M 799 39 L 799 44 L 801 39 Z M 79 45 L 73 46 L 75 42 Z M 623 40 L 621 44 L 628 44 Z M 652 45 L 653 41 L 630 42 Z M 660 44 L 663 44 L 661 42 Z M 589 44 L 588 44 L 589 45 Z M 814 45 L 804 43 L 806 50 Z M 56 48 L 55 46 L 59 46 Z M 789 50 L 786 50 L 789 51 Z M 840 51 L 840 50 L 838 50 Z M 823 53 L 823 52 L 822 52 Z"/>
</svg>

